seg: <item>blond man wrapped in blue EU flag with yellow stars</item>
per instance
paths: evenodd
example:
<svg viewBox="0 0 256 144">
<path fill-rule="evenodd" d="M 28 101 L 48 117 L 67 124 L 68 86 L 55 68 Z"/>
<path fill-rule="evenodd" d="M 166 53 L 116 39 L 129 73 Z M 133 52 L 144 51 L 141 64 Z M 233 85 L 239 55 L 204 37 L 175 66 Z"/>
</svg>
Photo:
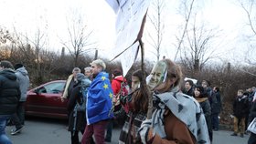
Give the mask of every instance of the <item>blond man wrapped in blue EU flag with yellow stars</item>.
<svg viewBox="0 0 256 144">
<path fill-rule="evenodd" d="M 95 143 L 102 144 L 108 119 L 112 118 L 112 86 L 109 75 L 104 72 L 106 65 L 101 59 L 92 61 L 91 67 L 93 80 L 86 99 L 87 126 L 81 143 L 90 143 L 94 135 Z"/>
</svg>

